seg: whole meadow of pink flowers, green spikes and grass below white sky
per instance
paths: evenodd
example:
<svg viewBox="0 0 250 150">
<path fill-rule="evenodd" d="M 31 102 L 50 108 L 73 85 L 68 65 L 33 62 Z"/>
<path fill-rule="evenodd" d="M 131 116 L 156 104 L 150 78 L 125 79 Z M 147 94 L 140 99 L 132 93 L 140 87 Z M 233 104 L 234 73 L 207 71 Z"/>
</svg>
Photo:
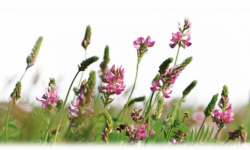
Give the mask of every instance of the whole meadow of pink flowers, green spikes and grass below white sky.
<svg viewBox="0 0 250 150">
<path fill-rule="evenodd" d="M 211 101 L 205 108 L 185 106 L 185 98 L 199 84 L 196 80 L 186 85 L 181 99 L 171 97 L 175 81 L 181 78 L 179 75 L 183 71 L 188 71 L 193 60 L 192 54 L 185 60 L 178 60 L 181 49 L 192 47 L 192 23 L 185 18 L 177 27 L 169 44 L 177 49 L 177 54 L 159 64 L 152 86 L 148 87 L 149 97 L 133 97 L 133 92 L 138 88 L 140 62 L 156 44 L 150 36 L 139 37 L 133 42 L 137 64 L 131 89 L 124 83 L 125 69 L 109 64 L 109 47 L 106 46 L 100 70 L 91 71 L 89 77 L 83 79 L 84 71 L 100 56 L 83 59 L 75 76 L 68 79 L 72 82 L 65 98 L 60 97 L 62 93 L 57 89 L 56 80 L 49 78 L 44 95 L 36 98 L 41 107 L 34 107 L 22 98 L 22 79 L 35 65 L 43 41 L 43 37 L 39 37 L 9 101 L 0 103 L 0 148 L 250 149 L 250 137 L 247 136 L 250 134 L 250 101 L 233 112 L 230 87 L 221 85 L 221 91 L 208 98 Z M 85 53 L 91 38 L 91 27 L 87 26 L 82 41 Z M 78 75 L 80 81 L 75 80 Z M 72 87 L 74 82 L 79 83 L 78 87 Z M 74 97 L 69 96 L 70 92 Z M 126 100 L 122 109 L 110 105 L 115 98 Z M 136 103 L 143 109 L 136 108 Z"/>
</svg>

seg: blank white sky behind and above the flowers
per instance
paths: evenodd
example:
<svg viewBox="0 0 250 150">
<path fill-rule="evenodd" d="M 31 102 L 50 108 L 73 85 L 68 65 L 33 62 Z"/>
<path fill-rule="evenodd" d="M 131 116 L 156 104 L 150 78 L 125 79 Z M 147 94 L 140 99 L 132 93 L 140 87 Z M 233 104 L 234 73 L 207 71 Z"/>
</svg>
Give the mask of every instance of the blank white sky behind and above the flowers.
<svg viewBox="0 0 250 150">
<path fill-rule="evenodd" d="M 142 59 L 134 92 L 134 96 L 148 96 L 151 80 L 161 62 L 168 57 L 175 58 L 177 48 L 169 47 L 171 35 L 178 31 L 177 23 L 183 25 L 188 16 L 193 25 L 193 44 L 181 49 L 177 63 L 189 56 L 193 56 L 193 62 L 177 79 L 172 97 L 181 96 L 191 81 L 198 80 L 197 87 L 187 97 L 188 104 L 207 105 L 212 95 L 220 94 L 226 84 L 233 105 L 244 105 L 250 90 L 249 6 L 249 1 L 231 0 L 0 1 L 0 99 L 8 100 L 39 36 L 44 40 L 35 66 L 22 81 L 23 96 L 30 95 L 33 103 L 35 97 L 42 96 L 49 77 L 54 77 L 60 81 L 59 93 L 64 99 L 77 65 L 84 58 L 81 42 L 87 25 L 92 27 L 87 55 L 101 59 L 87 70 L 85 78 L 90 70 L 99 70 L 108 44 L 110 66 L 123 65 L 125 84 L 131 86 L 137 60 L 133 41 L 148 35 L 156 41 Z M 40 72 L 41 82 L 30 87 L 36 72 Z M 5 87 L 10 79 L 13 81 Z"/>
</svg>

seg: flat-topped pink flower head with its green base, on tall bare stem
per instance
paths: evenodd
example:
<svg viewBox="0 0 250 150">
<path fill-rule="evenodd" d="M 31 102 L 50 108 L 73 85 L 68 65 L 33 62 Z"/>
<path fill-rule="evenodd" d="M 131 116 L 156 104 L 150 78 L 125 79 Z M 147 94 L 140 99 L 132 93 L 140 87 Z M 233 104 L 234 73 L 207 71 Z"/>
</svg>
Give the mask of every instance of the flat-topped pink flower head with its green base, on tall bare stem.
<svg viewBox="0 0 250 150">
<path fill-rule="evenodd" d="M 137 38 L 137 40 L 134 41 L 133 44 L 134 44 L 134 47 L 137 49 L 138 59 L 140 59 L 148 51 L 149 47 L 154 46 L 155 41 L 151 42 L 150 36 L 148 36 L 146 40 L 144 40 L 143 37 L 139 37 Z"/>
</svg>

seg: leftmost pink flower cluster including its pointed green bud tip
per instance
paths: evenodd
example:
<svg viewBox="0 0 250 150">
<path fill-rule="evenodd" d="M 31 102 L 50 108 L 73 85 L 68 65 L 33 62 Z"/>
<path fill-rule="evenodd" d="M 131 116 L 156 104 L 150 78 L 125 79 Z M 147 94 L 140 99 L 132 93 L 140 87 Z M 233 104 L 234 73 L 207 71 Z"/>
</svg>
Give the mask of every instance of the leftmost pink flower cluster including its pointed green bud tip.
<svg viewBox="0 0 250 150">
<path fill-rule="evenodd" d="M 55 79 L 50 78 L 49 86 L 45 89 L 45 94 L 42 96 L 44 100 L 36 98 L 42 103 L 43 108 L 53 111 L 61 101 L 58 95 Z"/>
</svg>

